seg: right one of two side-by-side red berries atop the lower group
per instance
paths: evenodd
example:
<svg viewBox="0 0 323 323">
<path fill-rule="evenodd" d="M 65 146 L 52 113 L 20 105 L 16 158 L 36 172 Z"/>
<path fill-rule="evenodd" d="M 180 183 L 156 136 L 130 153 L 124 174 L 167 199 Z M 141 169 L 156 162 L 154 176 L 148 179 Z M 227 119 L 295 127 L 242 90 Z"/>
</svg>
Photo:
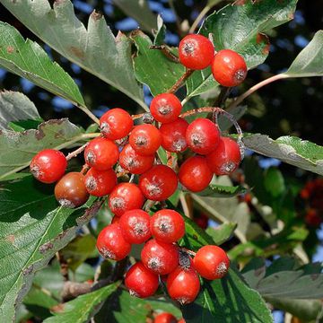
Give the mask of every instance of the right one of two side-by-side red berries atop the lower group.
<svg viewBox="0 0 323 323">
<path fill-rule="evenodd" d="M 153 214 L 151 231 L 156 240 L 172 243 L 184 236 L 185 223 L 178 212 L 163 209 Z"/>
</svg>

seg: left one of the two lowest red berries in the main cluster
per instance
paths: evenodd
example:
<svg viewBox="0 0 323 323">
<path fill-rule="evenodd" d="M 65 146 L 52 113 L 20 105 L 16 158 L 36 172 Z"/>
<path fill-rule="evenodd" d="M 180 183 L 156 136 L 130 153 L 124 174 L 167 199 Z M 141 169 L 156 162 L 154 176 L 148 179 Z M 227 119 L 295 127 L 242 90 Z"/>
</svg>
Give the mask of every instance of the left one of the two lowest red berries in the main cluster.
<svg viewBox="0 0 323 323">
<path fill-rule="evenodd" d="M 145 298 L 157 291 L 159 279 L 139 261 L 127 271 L 125 284 L 130 295 Z"/>
</svg>

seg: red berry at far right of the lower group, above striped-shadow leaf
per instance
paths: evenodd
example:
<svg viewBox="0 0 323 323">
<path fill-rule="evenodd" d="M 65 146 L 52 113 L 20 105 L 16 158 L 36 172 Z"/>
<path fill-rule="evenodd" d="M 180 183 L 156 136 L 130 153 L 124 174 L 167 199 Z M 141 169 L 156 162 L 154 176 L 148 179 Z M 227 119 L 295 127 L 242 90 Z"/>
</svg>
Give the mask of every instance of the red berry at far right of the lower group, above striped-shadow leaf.
<svg viewBox="0 0 323 323">
<path fill-rule="evenodd" d="M 199 275 L 213 280 L 227 274 L 230 260 L 226 252 L 217 246 L 204 246 L 196 252 L 194 267 Z"/>
</svg>

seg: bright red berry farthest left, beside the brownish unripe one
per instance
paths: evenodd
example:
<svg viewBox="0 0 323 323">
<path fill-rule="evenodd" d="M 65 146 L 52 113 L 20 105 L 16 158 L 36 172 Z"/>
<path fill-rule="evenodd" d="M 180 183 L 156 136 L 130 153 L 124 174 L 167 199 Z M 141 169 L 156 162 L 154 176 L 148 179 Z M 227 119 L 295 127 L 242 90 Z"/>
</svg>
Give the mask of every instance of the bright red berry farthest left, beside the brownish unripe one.
<svg viewBox="0 0 323 323">
<path fill-rule="evenodd" d="M 31 174 L 43 183 L 54 183 L 66 170 L 67 161 L 64 153 L 55 149 L 44 149 L 31 160 Z"/>
</svg>

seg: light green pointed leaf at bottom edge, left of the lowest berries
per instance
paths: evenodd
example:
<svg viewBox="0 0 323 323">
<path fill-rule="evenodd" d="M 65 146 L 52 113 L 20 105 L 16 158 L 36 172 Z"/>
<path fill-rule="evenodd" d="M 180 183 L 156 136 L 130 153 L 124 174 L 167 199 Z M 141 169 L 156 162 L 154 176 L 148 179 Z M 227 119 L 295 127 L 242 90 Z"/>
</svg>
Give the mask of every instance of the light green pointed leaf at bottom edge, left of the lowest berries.
<svg viewBox="0 0 323 323">
<path fill-rule="evenodd" d="M 86 323 L 98 310 L 100 302 L 115 292 L 120 283 L 109 284 L 97 291 L 88 292 L 78 296 L 73 301 L 67 301 L 60 306 L 60 310 L 54 316 L 45 319 L 46 323 Z"/>
</svg>

